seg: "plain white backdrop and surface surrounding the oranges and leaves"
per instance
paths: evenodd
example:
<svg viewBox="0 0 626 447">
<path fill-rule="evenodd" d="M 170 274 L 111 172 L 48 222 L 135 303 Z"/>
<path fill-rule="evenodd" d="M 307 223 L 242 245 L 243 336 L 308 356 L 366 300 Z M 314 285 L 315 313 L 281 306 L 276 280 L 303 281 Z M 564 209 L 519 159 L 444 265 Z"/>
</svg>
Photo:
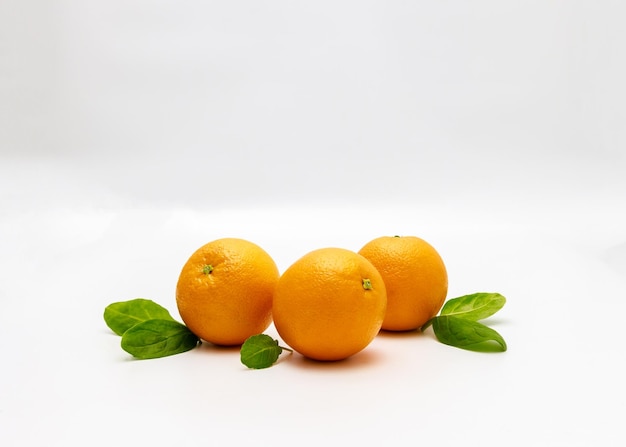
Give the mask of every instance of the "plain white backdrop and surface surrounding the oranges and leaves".
<svg viewBox="0 0 626 447">
<path fill-rule="evenodd" d="M 624 445 L 623 5 L 1 0 L 0 445 Z M 384 234 L 504 294 L 509 350 L 251 371 L 102 319 L 177 315 L 219 237 L 284 271 Z"/>
</svg>

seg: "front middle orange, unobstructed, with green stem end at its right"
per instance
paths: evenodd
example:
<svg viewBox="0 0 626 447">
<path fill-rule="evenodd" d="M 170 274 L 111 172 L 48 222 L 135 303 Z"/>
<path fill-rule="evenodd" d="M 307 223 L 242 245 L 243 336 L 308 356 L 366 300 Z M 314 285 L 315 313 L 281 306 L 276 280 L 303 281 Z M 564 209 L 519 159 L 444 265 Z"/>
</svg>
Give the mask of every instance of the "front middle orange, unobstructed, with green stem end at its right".
<svg viewBox="0 0 626 447">
<path fill-rule="evenodd" d="M 274 292 L 274 326 L 305 357 L 341 360 L 376 337 L 387 294 L 380 273 L 343 248 L 314 250 L 294 262 Z"/>
</svg>

